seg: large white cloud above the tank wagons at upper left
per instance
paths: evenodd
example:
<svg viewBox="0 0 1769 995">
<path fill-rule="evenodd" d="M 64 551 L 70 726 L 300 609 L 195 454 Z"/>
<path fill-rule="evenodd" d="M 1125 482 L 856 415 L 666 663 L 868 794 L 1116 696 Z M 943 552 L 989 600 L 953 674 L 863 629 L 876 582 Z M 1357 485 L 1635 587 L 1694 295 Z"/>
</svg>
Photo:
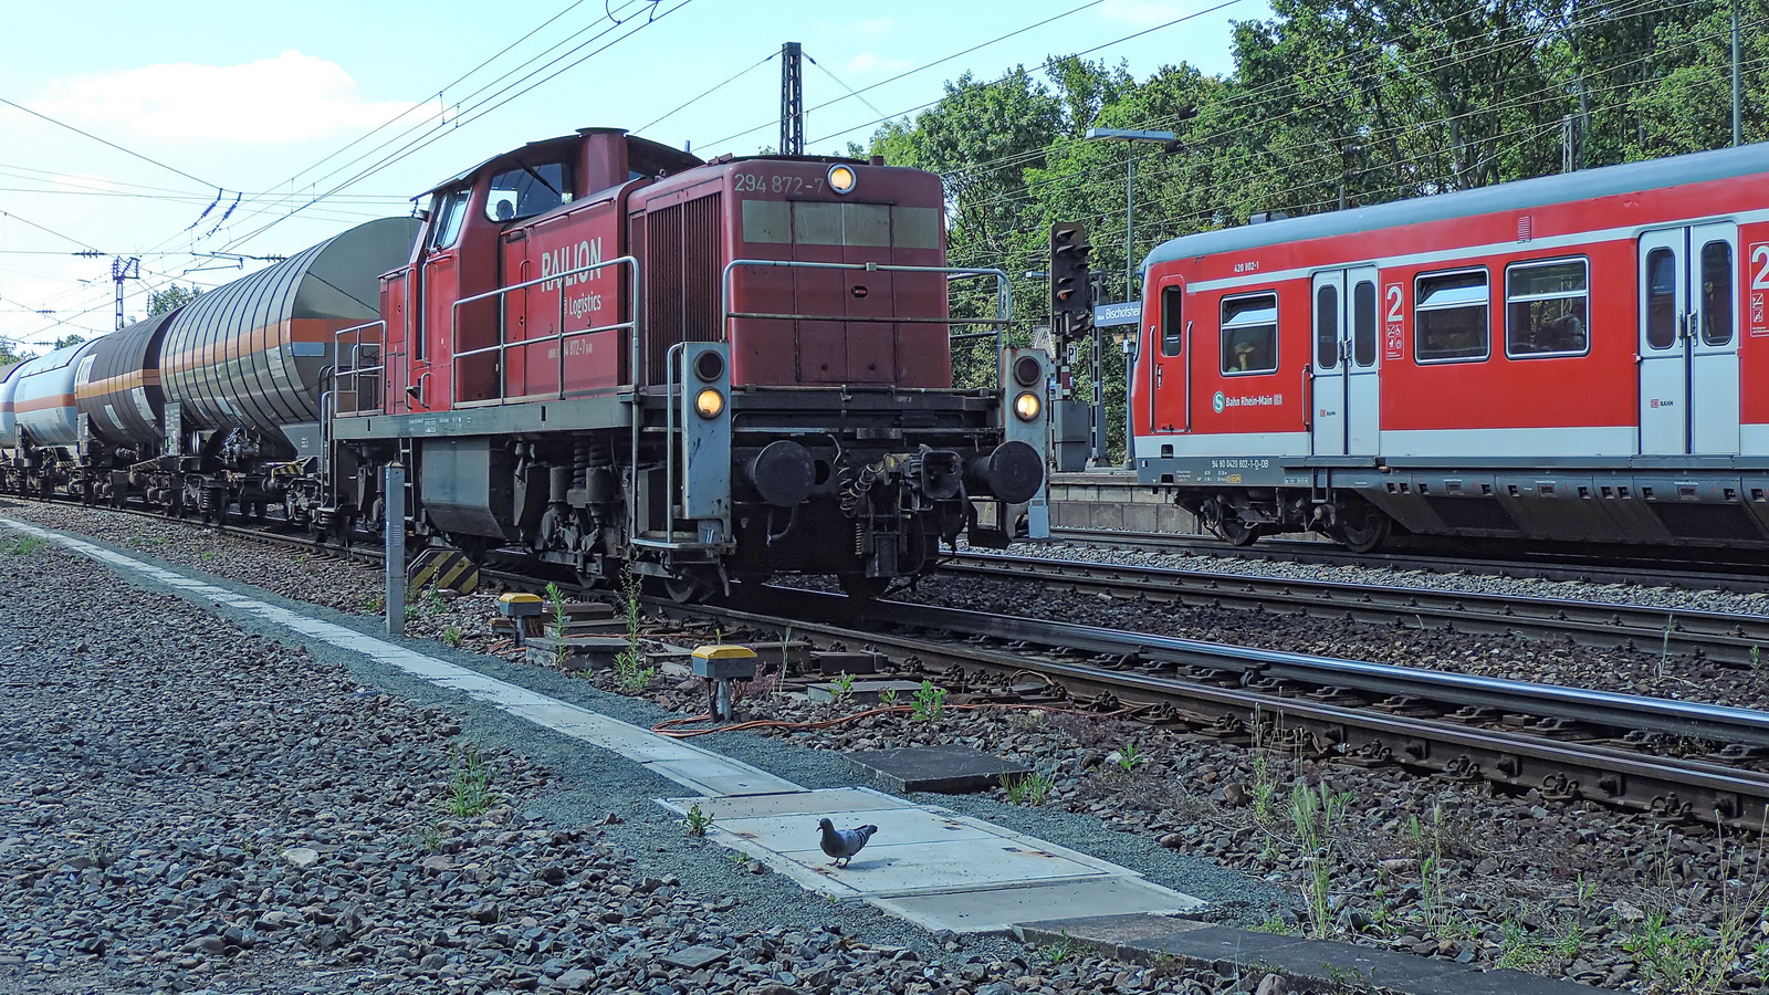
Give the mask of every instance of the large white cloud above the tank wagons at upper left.
<svg viewBox="0 0 1769 995">
<path fill-rule="evenodd" d="M 336 62 L 285 51 L 241 66 L 168 62 L 51 80 L 30 106 L 127 138 L 292 143 L 357 133 L 414 104 L 364 101 Z"/>
</svg>

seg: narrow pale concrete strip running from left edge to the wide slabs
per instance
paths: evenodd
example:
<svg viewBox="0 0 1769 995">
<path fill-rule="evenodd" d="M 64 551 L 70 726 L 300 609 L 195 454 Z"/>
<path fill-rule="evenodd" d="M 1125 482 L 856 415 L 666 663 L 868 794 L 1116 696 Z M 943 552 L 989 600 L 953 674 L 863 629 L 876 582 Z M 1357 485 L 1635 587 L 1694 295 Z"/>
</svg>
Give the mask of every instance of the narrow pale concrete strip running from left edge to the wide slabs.
<svg viewBox="0 0 1769 995">
<path fill-rule="evenodd" d="M 600 749 L 607 749 L 640 763 L 653 774 L 667 777 L 683 788 L 702 797 L 716 795 L 761 795 L 803 791 L 800 784 L 775 777 L 766 770 L 731 760 L 681 740 L 660 737 L 651 729 L 610 719 L 589 708 L 550 698 L 525 687 L 481 675 L 479 671 L 428 657 L 416 650 L 366 636 L 343 625 L 333 625 L 317 618 L 265 604 L 262 600 L 239 595 L 226 588 L 209 584 L 196 577 L 143 563 L 133 556 L 124 556 L 62 533 L 42 529 L 14 519 L 0 519 L 9 529 L 18 529 L 41 536 L 57 545 L 67 547 L 81 556 L 106 563 L 120 572 L 134 574 L 200 595 L 219 605 L 237 607 L 265 621 L 288 629 L 295 634 L 318 639 L 340 650 L 361 653 L 379 664 L 396 667 L 437 687 L 465 694 L 474 701 L 485 701 L 517 719 L 552 729 L 555 733 L 582 740 Z"/>
</svg>

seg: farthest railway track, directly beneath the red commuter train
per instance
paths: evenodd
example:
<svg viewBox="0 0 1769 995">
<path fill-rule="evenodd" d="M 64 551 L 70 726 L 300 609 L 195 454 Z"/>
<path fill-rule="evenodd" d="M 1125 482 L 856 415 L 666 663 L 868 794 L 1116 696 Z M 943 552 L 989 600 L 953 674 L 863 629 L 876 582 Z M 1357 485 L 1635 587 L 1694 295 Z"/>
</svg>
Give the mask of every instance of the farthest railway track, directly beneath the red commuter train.
<svg viewBox="0 0 1769 995">
<path fill-rule="evenodd" d="M 1638 584 L 1650 577 L 1689 590 L 1739 593 L 1769 591 L 1769 563 L 1746 556 L 1704 556 L 1691 551 L 1557 551 L 1505 547 L 1505 558 L 1470 556 L 1452 544 L 1419 540 L 1415 551 L 1352 552 L 1327 542 L 1302 538 L 1263 538 L 1256 545 L 1235 547 L 1205 535 L 1137 533 L 1123 529 L 1053 528 L 1051 538 L 1088 545 L 1208 556 L 1251 563 L 1320 563 L 1329 567 L 1367 567 L 1383 570 L 1419 570 L 1426 574 L 1489 574 L 1498 577 L 1535 577 L 1543 581 L 1583 581 L 1590 584 Z M 1504 544 L 1493 544 L 1504 545 Z"/>
</svg>

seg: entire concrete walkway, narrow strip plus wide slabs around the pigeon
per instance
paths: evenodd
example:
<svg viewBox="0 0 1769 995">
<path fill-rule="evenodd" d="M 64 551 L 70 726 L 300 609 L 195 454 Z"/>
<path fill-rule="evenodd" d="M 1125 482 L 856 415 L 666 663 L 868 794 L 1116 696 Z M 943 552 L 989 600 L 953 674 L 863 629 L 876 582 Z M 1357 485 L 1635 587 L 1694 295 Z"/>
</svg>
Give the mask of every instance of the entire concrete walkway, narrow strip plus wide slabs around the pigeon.
<svg viewBox="0 0 1769 995">
<path fill-rule="evenodd" d="M 1297 976 L 1362 976 L 1390 990 L 1578 991 L 1571 983 L 1516 972 L 1481 974 L 1447 961 L 1344 944 L 1306 942 L 1208 926 L 1171 915 L 1205 901 L 1145 875 L 957 811 L 913 804 L 870 788 L 805 788 L 741 760 L 660 737 L 647 728 L 552 698 L 518 683 L 421 653 L 389 639 L 271 604 L 235 586 L 147 563 L 103 545 L 0 517 L 0 528 L 34 535 L 188 600 L 244 613 L 274 637 L 324 643 L 361 660 L 428 682 L 444 694 L 492 706 L 550 733 L 610 751 L 685 790 L 655 798 L 672 813 L 699 807 L 708 837 L 833 901 L 865 901 L 929 931 L 1014 933 L 1028 942 L 1088 942 L 1127 960 L 1265 963 Z M 276 630 L 283 632 L 276 632 Z M 874 823 L 877 837 L 844 868 L 816 846 L 816 821 Z M 1224 898 L 1231 898 L 1224 894 Z"/>
</svg>

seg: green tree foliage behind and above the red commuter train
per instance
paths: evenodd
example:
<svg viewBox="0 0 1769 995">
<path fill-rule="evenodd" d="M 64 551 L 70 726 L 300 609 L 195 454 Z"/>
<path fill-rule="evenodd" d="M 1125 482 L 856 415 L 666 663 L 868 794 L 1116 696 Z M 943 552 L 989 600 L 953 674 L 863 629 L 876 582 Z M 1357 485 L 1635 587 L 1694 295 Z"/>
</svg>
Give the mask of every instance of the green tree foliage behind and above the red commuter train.
<svg viewBox="0 0 1769 995">
<path fill-rule="evenodd" d="M 1146 80 L 1074 57 L 998 80 L 964 74 L 870 154 L 946 179 L 953 266 L 998 267 L 1014 317 L 1042 322 L 1053 221 L 1079 220 L 1106 296 L 1125 255 L 1242 225 L 1470 189 L 1732 140 L 1730 4 L 1712 0 L 1274 0 L 1235 25 L 1235 69 Z M 1769 138 L 1769 0 L 1739 0 L 1744 140 Z M 1173 131 L 1175 149 L 1088 142 L 1088 127 Z M 858 149 L 856 149 L 858 152 Z M 1134 246 L 1125 246 L 1127 158 Z M 975 282 L 955 313 L 992 313 Z M 1076 388 L 1090 397 L 1083 363 Z M 1122 448 L 1123 365 L 1102 365 Z M 961 382 L 992 375 L 961 361 Z"/>
</svg>

